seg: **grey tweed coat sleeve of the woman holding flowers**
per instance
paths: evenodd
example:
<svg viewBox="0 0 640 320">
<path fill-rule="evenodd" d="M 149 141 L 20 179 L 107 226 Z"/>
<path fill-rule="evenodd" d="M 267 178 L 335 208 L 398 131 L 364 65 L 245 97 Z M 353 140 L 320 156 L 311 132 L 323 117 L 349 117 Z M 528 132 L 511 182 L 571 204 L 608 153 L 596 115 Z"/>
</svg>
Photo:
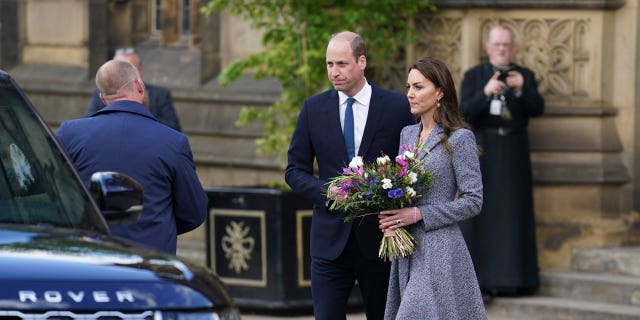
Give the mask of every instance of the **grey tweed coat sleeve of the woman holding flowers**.
<svg viewBox="0 0 640 320">
<path fill-rule="evenodd" d="M 459 135 L 449 139 L 453 154 L 451 165 L 453 177 L 457 184 L 458 197 L 453 201 L 442 204 L 429 204 L 420 208 L 428 212 L 428 219 L 424 219 L 425 227 L 429 230 L 448 226 L 480 213 L 482 208 L 482 175 L 480 161 L 473 133 L 466 129 L 459 129 Z"/>
</svg>

